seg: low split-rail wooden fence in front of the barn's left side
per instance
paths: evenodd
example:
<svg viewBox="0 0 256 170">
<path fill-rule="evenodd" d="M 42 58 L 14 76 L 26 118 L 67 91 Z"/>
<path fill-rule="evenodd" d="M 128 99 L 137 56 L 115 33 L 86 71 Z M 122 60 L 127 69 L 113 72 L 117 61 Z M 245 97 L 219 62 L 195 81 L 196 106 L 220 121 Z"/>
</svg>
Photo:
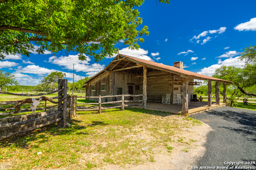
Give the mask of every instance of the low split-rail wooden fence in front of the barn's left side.
<svg viewBox="0 0 256 170">
<path fill-rule="evenodd" d="M 83 104 L 83 105 L 99 105 L 97 108 L 84 108 L 84 109 L 76 109 L 76 111 L 98 111 L 100 114 L 102 110 L 106 109 L 113 109 L 117 107 L 122 107 L 122 111 L 124 111 L 124 107 L 130 107 L 130 106 L 140 106 L 143 104 L 124 104 L 124 103 L 130 103 L 130 102 L 143 102 L 143 100 L 124 100 L 124 97 L 138 97 L 143 96 L 143 94 L 133 95 L 133 94 L 122 94 L 122 95 L 116 95 L 116 96 L 77 96 L 77 98 L 98 98 L 98 103 L 76 103 L 76 104 Z M 101 102 L 102 98 L 113 98 L 113 97 L 122 97 L 121 100 L 114 101 L 114 102 Z M 104 107 L 102 108 L 103 104 L 117 104 L 121 103 L 120 106 L 110 106 L 110 107 Z"/>
</svg>

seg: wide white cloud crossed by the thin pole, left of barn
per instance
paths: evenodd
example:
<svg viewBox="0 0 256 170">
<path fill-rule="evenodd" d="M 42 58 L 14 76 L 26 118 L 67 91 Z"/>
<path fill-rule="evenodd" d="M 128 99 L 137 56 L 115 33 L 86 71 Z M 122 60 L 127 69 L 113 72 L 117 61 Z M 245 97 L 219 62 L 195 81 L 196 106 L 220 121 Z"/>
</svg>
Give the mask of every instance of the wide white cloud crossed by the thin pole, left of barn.
<svg viewBox="0 0 256 170">
<path fill-rule="evenodd" d="M 58 66 L 63 66 L 65 69 L 73 70 L 73 63 L 74 63 L 74 70 L 82 71 L 82 72 L 100 72 L 105 65 L 101 65 L 98 63 L 90 64 L 89 61 L 91 59 L 87 57 L 86 61 L 81 61 L 78 59 L 78 55 L 69 55 L 72 60 L 68 60 L 67 57 L 56 57 L 52 56 L 49 58 L 49 63 L 57 64 Z"/>
</svg>

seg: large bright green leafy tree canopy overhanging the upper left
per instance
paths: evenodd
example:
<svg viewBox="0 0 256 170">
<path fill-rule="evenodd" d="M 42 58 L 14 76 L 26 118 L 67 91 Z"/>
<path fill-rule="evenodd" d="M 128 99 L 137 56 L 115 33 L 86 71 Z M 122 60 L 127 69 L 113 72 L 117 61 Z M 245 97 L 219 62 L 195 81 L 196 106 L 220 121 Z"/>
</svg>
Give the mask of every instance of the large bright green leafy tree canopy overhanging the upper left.
<svg viewBox="0 0 256 170">
<path fill-rule="evenodd" d="M 160 0 L 169 3 L 169 0 Z M 78 52 L 95 61 L 117 53 L 116 43 L 138 49 L 148 35 L 139 31 L 137 7 L 144 0 L 0 0 L 0 59 L 4 53 L 29 57 L 30 51 Z M 34 45 L 39 48 L 36 49 Z"/>
</svg>

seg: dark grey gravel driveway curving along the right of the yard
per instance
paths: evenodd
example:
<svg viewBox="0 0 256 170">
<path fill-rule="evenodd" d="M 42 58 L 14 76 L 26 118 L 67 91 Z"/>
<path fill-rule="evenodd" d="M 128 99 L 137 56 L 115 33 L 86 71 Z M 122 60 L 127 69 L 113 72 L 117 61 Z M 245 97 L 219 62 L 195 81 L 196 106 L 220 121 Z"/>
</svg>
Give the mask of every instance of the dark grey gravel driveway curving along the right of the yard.
<svg viewBox="0 0 256 170">
<path fill-rule="evenodd" d="M 212 127 L 204 145 L 206 153 L 197 161 L 197 166 L 225 166 L 224 162 L 244 162 L 242 165 L 254 169 L 256 166 L 256 111 L 232 107 L 219 107 L 190 115 Z M 246 164 L 252 161 L 255 164 Z M 232 165 L 231 165 L 232 166 Z M 240 168 L 240 167 L 239 167 Z M 230 167 L 228 168 L 230 169 Z"/>
</svg>

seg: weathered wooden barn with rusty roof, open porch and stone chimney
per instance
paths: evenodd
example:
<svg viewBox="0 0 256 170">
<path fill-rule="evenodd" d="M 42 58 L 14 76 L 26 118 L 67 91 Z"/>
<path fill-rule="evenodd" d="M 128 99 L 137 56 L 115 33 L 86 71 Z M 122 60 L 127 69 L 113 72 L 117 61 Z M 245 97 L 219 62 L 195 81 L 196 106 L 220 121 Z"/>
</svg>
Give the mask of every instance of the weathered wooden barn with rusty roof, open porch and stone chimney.
<svg viewBox="0 0 256 170">
<path fill-rule="evenodd" d="M 106 68 L 84 82 L 86 96 L 114 96 L 121 94 L 143 94 L 144 105 L 146 102 L 162 102 L 166 94 L 170 94 L 170 103 L 178 103 L 177 94 L 183 94 L 182 113 L 188 111 L 188 100 L 193 100 L 194 85 L 196 80 L 208 80 L 210 95 L 208 105 L 211 106 L 212 87 L 211 81 L 216 81 L 216 93 L 218 82 L 232 83 L 226 80 L 205 76 L 183 69 L 182 62 L 174 62 L 174 66 L 168 66 L 152 61 L 138 59 L 127 55 L 118 54 Z M 223 93 L 224 95 L 226 92 Z M 219 95 L 216 103 L 219 103 Z M 128 100 L 141 100 L 140 97 L 130 97 Z M 226 98 L 226 97 L 225 97 Z M 98 100 L 90 98 L 90 100 Z M 119 98 L 102 98 L 102 102 L 120 100 Z M 209 106 L 209 107 L 210 107 Z"/>
</svg>

